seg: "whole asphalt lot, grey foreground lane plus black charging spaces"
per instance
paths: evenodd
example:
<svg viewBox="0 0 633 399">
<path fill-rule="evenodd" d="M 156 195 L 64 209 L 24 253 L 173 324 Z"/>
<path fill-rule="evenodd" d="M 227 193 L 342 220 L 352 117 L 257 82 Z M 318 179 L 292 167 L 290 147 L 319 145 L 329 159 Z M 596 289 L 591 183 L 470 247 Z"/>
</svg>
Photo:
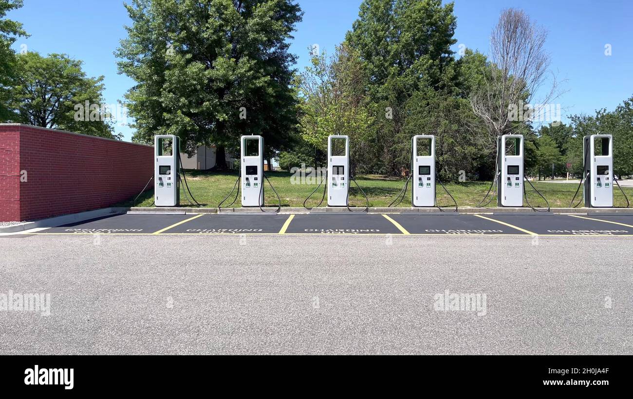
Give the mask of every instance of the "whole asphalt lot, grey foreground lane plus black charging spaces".
<svg viewBox="0 0 633 399">
<path fill-rule="evenodd" d="M 631 224 L 117 215 L 3 235 L 0 294 L 50 301 L 0 311 L 0 354 L 633 354 Z"/>
</svg>

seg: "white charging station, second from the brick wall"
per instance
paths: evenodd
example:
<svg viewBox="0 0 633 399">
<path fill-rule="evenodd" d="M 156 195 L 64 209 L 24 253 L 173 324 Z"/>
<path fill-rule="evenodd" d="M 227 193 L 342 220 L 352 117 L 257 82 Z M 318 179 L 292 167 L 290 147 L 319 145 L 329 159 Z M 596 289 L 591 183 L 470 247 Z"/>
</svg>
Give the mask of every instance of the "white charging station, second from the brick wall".
<svg viewBox="0 0 633 399">
<path fill-rule="evenodd" d="M 264 205 L 264 138 L 242 136 L 242 206 Z"/>
</svg>

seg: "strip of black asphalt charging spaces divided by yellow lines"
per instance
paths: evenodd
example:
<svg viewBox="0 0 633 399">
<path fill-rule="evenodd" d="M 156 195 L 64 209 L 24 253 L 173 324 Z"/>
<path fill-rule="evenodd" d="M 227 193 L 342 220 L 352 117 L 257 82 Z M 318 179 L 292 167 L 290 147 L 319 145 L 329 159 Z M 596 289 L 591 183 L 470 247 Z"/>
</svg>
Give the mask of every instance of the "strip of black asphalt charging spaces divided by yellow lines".
<svg viewBox="0 0 633 399">
<path fill-rule="evenodd" d="M 633 235 L 633 215 L 123 214 L 36 234 Z"/>
</svg>

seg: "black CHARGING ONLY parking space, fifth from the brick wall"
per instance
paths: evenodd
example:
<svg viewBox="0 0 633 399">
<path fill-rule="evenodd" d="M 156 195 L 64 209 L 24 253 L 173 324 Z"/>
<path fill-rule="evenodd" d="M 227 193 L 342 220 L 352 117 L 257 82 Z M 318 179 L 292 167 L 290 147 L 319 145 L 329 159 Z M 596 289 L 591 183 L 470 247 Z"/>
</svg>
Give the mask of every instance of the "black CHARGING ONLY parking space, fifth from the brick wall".
<svg viewBox="0 0 633 399">
<path fill-rule="evenodd" d="M 572 215 L 486 215 L 538 235 L 632 235 L 633 227 Z"/>
</svg>

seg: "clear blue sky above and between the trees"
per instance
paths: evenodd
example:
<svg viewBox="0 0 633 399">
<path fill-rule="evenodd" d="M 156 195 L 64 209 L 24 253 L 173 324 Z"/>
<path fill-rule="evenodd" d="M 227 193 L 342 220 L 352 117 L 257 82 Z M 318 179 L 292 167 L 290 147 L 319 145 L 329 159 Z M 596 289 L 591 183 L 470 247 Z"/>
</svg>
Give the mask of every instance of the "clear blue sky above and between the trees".
<svg viewBox="0 0 633 399">
<path fill-rule="evenodd" d="M 308 62 L 308 47 L 318 44 L 331 51 L 358 17 L 361 0 L 299 0 L 304 11 L 291 51 L 298 54 L 298 68 Z M 454 51 L 463 44 L 486 54 L 489 35 L 503 8 L 524 9 L 533 20 L 548 28 L 546 47 L 551 69 L 565 80 L 565 93 L 556 102 L 569 114 L 592 114 L 613 109 L 633 95 L 633 2 L 621 1 L 518 1 L 457 0 L 454 13 L 457 30 Z M 119 0 L 25 0 L 24 7 L 8 18 L 24 24 L 30 33 L 14 45 L 20 51 L 41 54 L 62 52 L 84 61 L 90 76 L 105 76 L 106 102 L 122 100 L 132 80 L 116 73 L 113 55 L 125 37 L 129 23 Z M 605 45 L 611 56 L 605 56 Z M 132 129 L 116 126 L 130 140 Z"/>
</svg>

